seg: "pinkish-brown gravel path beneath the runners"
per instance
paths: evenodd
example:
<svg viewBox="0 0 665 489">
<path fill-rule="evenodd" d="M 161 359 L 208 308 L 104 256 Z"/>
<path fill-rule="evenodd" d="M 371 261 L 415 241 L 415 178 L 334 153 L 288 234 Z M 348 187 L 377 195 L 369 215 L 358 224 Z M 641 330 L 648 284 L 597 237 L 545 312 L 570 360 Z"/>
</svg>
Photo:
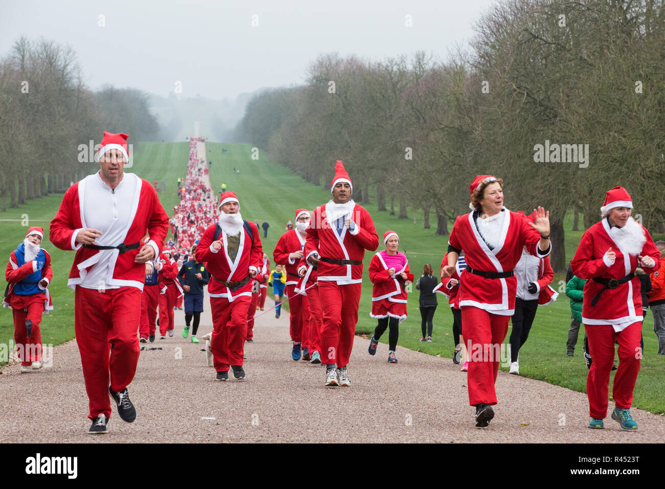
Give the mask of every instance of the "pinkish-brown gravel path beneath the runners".
<svg viewBox="0 0 665 489">
<path fill-rule="evenodd" d="M 272 301 L 268 301 L 272 305 Z M 209 300 L 199 337 L 211 331 Z M 138 418 L 114 408 L 106 435 L 90 425 L 76 341 L 55 347 L 53 367 L 21 375 L 19 365 L 0 375 L 0 442 L 662 442 L 665 418 L 633 409 L 640 424 L 625 432 L 606 419 L 586 428 L 583 393 L 499 372 L 499 405 L 488 428 L 475 428 L 467 405 L 466 374 L 450 359 L 398 347 L 388 365 L 387 345 L 376 357 L 356 337 L 349 365 L 351 387 L 324 387 L 324 369 L 291 359 L 288 317 L 267 313 L 246 343 L 247 379 L 215 381 L 204 343 L 176 336 L 141 352 L 129 387 Z M 182 355 L 181 355 L 182 353 Z M 231 375 L 232 377 L 232 375 Z M 35 395 L 34 393 L 38 393 Z M 610 408 L 613 405 L 610 403 Z M 45 430 L 45 426 L 49 429 Z M 39 437 L 35 438 L 35 433 Z"/>
</svg>

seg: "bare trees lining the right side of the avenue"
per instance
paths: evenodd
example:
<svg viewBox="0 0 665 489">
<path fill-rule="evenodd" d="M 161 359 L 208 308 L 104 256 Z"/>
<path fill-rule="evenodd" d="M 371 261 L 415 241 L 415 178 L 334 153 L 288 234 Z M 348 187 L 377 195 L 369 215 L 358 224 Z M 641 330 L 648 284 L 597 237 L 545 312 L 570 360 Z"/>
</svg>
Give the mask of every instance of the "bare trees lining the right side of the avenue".
<svg viewBox="0 0 665 489">
<path fill-rule="evenodd" d="M 255 96 L 237 137 L 316 184 L 344 160 L 356 202 L 372 188 L 436 234 L 469 212 L 475 175 L 503 178 L 507 208 L 550 210 L 556 271 L 572 258 L 564 216 L 597 222 L 613 186 L 664 232 L 663 0 L 504 0 L 475 32 L 446 61 L 321 56 L 303 86 Z"/>
</svg>

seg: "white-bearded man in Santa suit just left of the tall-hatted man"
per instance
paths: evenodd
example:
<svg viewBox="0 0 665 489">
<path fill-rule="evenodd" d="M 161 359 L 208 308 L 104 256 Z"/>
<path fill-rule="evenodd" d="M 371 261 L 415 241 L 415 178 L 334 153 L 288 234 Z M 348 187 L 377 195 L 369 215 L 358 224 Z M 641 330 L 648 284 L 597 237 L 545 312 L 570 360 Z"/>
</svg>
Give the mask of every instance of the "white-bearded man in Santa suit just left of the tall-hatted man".
<svg viewBox="0 0 665 489">
<path fill-rule="evenodd" d="M 289 311 L 291 319 L 291 341 L 293 341 L 293 349 L 291 349 L 291 358 L 299 360 L 301 356 L 301 344 L 303 342 L 303 295 L 295 292 L 295 287 L 298 285 L 298 263 L 303 257 L 303 249 L 305 249 L 305 237 L 307 226 L 309 226 L 309 211 L 307 209 L 299 209 L 295 212 L 296 228 L 285 232 L 273 251 L 273 258 L 275 263 L 283 265 L 287 273 L 286 281 L 286 294 L 289 297 Z M 309 360 L 309 352 L 305 352 L 307 360 Z"/>
</svg>

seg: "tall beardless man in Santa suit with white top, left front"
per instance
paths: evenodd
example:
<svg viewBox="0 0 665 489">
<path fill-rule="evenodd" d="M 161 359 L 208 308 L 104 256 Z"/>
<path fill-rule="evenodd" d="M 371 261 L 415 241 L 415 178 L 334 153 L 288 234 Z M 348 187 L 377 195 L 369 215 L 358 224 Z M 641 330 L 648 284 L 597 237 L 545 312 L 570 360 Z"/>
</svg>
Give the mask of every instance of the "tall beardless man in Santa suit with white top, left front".
<svg viewBox="0 0 665 489">
<path fill-rule="evenodd" d="M 168 216 L 153 186 L 124 172 L 127 137 L 104 132 L 100 170 L 65 192 L 51 221 L 51 242 L 76 251 L 68 285 L 75 289 L 74 331 L 92 434 L 106 432 L 109 394 L 123 421 L 136 419 L 127 386 L 138 363 L 144 263 L 159 255 L 168 232 Z M 150 240 L 141 245 L 146 232 Z"/>
</svg>

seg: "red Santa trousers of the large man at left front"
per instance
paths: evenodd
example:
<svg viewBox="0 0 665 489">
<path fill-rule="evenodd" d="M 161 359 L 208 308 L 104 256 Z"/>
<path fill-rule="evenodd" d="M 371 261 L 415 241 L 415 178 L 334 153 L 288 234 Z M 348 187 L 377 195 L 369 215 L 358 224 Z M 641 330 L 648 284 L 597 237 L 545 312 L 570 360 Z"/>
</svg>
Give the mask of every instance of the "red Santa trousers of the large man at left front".
<svg viewBox="0 0 665 489">
<path fill-rule="evenodd" d="M 134 379 L 140 308 L 141 291 L 136 287 L 99 292 L 76 286 L 74 332 L 90 401 L 90 419 L 102 413 L 111 416 L 109 380 L 111 389 L 120 392 Z"/>
</svg>

